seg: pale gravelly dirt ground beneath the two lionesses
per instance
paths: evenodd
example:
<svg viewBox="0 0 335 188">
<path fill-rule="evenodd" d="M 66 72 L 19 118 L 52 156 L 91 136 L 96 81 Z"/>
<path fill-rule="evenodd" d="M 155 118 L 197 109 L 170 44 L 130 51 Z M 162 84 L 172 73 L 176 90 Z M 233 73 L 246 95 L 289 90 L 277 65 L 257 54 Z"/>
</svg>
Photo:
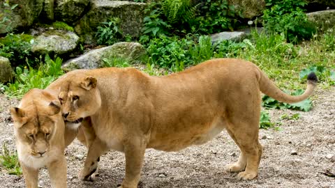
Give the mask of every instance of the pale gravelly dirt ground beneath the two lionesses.
<svg viewBox="0 0 335 188">
<path fill-rule="evenodd" d="M 0 95 L 0 145 L 8 143 L 15 150 L 13 123 L 9 107 L 17 100 Z M 237 180 L 237 173 L 224 171 L 225 165 L 237 160 L 239 150 L 226 132 L 203 146 L 180 152 L 147 150 L 139 187 L 332 187 L 335 178 L 335 88 L 318 88 L 309 112 L 269 110 L 271 121 L 282 123 L 281 130 L 260 130 L 264 146 L 258 178 Z M 300 113 L 298 120 L 281 120 L 283 114 Z M 265 138 L 266 137 L 266 138 Z M 292 155 L 292 150 L 297 155 Z M 117 187 L 124 178 L 124 155 L 110 151 L 101 157 L 100 175 L 94 182 L 77 179 L 86 148 L 78 141 L 66 150 L 68 187 Z M 2 152 L 2 151 L 1 151 Z M 24 187 L 24 179 L 8 175 L 0 166 L 0 187 Z M 40 187 L 50 187 L 47 171 L 40 171 Z"/>
</svg>

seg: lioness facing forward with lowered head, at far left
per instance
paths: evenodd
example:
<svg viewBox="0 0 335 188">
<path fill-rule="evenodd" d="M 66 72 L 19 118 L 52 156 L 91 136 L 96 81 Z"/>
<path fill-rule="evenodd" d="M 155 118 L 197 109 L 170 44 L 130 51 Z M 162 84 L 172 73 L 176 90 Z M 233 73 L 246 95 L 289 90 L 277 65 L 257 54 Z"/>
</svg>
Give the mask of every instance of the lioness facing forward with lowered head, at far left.
<svg viewBox="0 0 335 188">
<path fill-rule="evenodd" d="M 38 171 L 44 166 L 49 171 L 52 187 L 66 187 L 65 125 L 57 93 L 32 89 L 10 112 L 27 187 L 38 187 Z"/>
</svg>

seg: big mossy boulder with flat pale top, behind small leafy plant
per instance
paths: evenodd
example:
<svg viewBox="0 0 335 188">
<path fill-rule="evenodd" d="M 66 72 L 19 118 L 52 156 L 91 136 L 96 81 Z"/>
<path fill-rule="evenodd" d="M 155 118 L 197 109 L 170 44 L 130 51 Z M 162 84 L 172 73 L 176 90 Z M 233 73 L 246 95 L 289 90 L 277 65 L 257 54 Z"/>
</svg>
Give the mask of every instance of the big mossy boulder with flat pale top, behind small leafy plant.
<svg viewBox="0 0 335 188">
<path fill-rule="evenodd" d="M 92 44 L 96 28 L 101 22 L 107 22 L 111 17 L 119 17 L 121 31 L 132 37 L 140 36 L 146 3 L 129 1 L 93 0 L 91 9 L 80 19 L 75 31 L 84 38 L 84 42 Z"/>
</svg>

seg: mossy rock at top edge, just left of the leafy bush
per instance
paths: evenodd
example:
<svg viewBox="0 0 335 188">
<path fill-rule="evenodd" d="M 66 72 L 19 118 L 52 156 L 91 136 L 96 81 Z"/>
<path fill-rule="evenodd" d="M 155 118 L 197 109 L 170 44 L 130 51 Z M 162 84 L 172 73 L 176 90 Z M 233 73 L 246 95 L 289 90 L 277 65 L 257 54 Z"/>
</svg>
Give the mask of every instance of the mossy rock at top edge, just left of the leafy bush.
<svg viewBox="0 0 335 188">
<path fill-rule="evenodd" d="M 228 0 L 246 19 L 260 16 L 265 10 L 265 0 Z"/>
</svg>

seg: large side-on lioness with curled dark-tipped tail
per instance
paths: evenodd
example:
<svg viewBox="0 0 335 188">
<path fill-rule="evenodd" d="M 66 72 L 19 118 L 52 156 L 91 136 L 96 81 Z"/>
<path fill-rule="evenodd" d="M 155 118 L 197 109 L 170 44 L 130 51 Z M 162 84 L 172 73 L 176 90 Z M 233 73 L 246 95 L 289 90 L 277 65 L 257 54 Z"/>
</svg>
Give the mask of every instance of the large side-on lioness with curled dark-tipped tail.
<svg viewBox="0 0 335 188">
<path fill-rule="evenodd" d="M 227 130 L 241 153 L 228 171 L 251 180 L 258 175 L 260 91 L 282 102 L 309 97 L 317 77 L 308 75 L 299 96 L 283 93 L 251 62 L 205 61 L 184 72 L 150 77 L 135 68 L 75 70 L 62 79 L 59 100 L 66 120 L 91 118 L 97 138 L 89 147 L 80 179 L 89 178 L 106 150 L 126 157 L 121 187 L 137 187 L 146 148 L 176 151 L 200 145 Z"/>
</svg>

